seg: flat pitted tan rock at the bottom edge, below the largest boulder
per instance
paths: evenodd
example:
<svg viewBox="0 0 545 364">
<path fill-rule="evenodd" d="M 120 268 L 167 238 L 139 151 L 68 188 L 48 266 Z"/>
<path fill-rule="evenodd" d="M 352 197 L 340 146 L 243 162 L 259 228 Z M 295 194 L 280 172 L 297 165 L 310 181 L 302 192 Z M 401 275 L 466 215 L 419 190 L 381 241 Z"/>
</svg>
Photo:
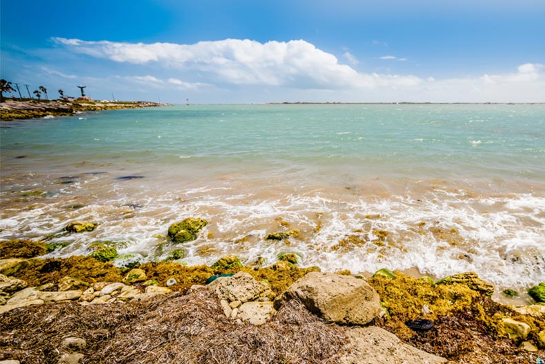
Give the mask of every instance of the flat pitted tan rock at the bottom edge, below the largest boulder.
<svg viewBox="0 0 545 364">
<path fill-rule="evenodd" d="M 423 352 L 402 343 L 394 334 L 376 326 L 355 327 L 346 332 L 350 343 L 348 354 L 339 358 L 339 364 L 438 364 L 445 358 Z"/>
</svg>

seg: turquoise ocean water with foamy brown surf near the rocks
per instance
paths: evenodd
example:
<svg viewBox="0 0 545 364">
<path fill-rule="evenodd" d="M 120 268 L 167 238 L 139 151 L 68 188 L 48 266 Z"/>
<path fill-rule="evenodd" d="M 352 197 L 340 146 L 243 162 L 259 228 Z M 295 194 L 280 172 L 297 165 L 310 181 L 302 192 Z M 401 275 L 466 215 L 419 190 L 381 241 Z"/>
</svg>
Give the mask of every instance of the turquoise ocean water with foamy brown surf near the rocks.
<svg viewBox="0 0 545 364">
<path fill-rule="evenodd" d="M 191 105 L 1 122 L 0 238 L 74 220 L 48 256 L 97 240 L 188 265 L 225 255 L 353 274 L 545 280 L 545 105 Z M 209 224 L 174 245 L 168 227 Z M 297 229 L 288 240 L 265 240 Z M 117 264 L 121 264 L 118 261 Z"/>
</svg>

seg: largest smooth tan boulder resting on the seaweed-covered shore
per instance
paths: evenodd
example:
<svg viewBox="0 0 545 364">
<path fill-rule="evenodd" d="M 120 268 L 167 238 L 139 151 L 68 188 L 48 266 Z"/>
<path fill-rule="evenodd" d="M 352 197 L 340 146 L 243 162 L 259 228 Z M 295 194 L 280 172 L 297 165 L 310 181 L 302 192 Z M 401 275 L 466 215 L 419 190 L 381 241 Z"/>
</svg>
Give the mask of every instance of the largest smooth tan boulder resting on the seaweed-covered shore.
<svg viewBox="0 0 545 364">
<path fill-rule="evenodd" d="M 334 323 L 366 325 L 382 312 L 379 295 L 364 280 L 310 272 L 275 300 L 275 308 L 297 298 L 306 308 Z"/>
</svg>

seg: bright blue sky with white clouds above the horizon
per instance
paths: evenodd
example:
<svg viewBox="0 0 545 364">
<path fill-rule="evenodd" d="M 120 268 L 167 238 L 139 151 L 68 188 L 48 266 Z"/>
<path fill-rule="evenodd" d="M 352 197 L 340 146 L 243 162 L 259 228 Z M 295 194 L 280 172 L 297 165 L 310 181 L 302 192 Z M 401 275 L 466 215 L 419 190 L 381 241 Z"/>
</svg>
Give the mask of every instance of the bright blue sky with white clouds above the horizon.
<svg viewBox="0 0 545 364">
<path fill-rule="evenodd" d="M 545 102 L 544 19 L 543 0 L 1 1 L 0 77 L 174 104 Z"/>
</svg>

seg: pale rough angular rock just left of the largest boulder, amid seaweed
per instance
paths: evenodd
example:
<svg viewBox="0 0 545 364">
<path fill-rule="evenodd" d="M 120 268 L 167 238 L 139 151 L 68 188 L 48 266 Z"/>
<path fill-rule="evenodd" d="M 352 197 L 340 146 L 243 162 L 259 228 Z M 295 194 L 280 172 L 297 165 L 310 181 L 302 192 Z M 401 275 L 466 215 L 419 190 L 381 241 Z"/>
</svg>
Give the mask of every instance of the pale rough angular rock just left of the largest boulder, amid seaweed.
<svg viewBox="0 0 545 364">
<path fill-rule="evenodd" d="M 244 303 L 259 298 L 274 297 L 268 285 L 257 282 L 250 274 L 243 271 L 239 271 L 232 277 L 217 278 L 207 287 L 215 291 L 220 300 L 228 302 L 238 300 Z"/>
</svg>

